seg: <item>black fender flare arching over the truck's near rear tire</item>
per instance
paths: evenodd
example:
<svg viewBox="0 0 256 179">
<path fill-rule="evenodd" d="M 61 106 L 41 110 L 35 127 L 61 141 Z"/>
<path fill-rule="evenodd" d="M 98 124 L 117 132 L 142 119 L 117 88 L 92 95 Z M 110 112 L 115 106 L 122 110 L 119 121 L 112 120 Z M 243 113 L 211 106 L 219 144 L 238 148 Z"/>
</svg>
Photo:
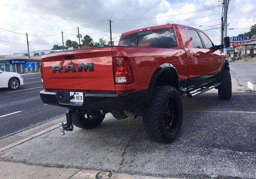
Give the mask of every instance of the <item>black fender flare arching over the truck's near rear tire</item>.
<svg viewBox="0 0 256 179">
<path fill-rule="evenodd" d="M 179 90 L 179 78 L 178 78 L 178 72 L 176 70 L 176 68 L 174 67 L 174 65 L 172 64 L 161 64 L 160 66 L 158 66 L 155 70 L 155 72 L 153 73 L 152 77 L 151 77 L 151 80 L 150 80 L 150 83 L 148 85 L 148 92 L 147 92 L 147 96 L 146 96 L 146 104 L 149 102 L 150 98 L 151 98 L 151 95 L 152 95 L 152 92 L 153 92 L 153 89 L 154 89 L 154 86 L 156 84 L 156 80 L 157 78 L 160 76 L 160 74 L 164 71 L 167 71 L 167 70 L 170 70 L 172 73 L 175 74 L 176 76 L 176 79 L 177 79 L 177 90 Z"/>
</svg>

